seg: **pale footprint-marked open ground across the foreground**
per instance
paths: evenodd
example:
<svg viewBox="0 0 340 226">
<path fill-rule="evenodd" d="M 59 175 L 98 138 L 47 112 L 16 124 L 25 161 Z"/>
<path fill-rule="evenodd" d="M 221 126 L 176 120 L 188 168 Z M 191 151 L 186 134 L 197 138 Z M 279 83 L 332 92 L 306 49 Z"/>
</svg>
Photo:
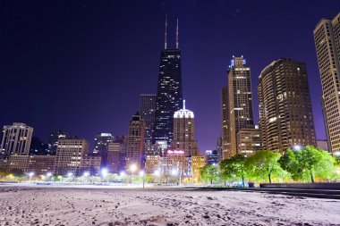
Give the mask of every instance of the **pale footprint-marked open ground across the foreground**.
<svg viewBox="0 0 340 226">
<path fill-rule="evenodd" d="M 0 184 L 0 225 L 340 225 L 340 201 L 242 191 Z"/>
</svg>

